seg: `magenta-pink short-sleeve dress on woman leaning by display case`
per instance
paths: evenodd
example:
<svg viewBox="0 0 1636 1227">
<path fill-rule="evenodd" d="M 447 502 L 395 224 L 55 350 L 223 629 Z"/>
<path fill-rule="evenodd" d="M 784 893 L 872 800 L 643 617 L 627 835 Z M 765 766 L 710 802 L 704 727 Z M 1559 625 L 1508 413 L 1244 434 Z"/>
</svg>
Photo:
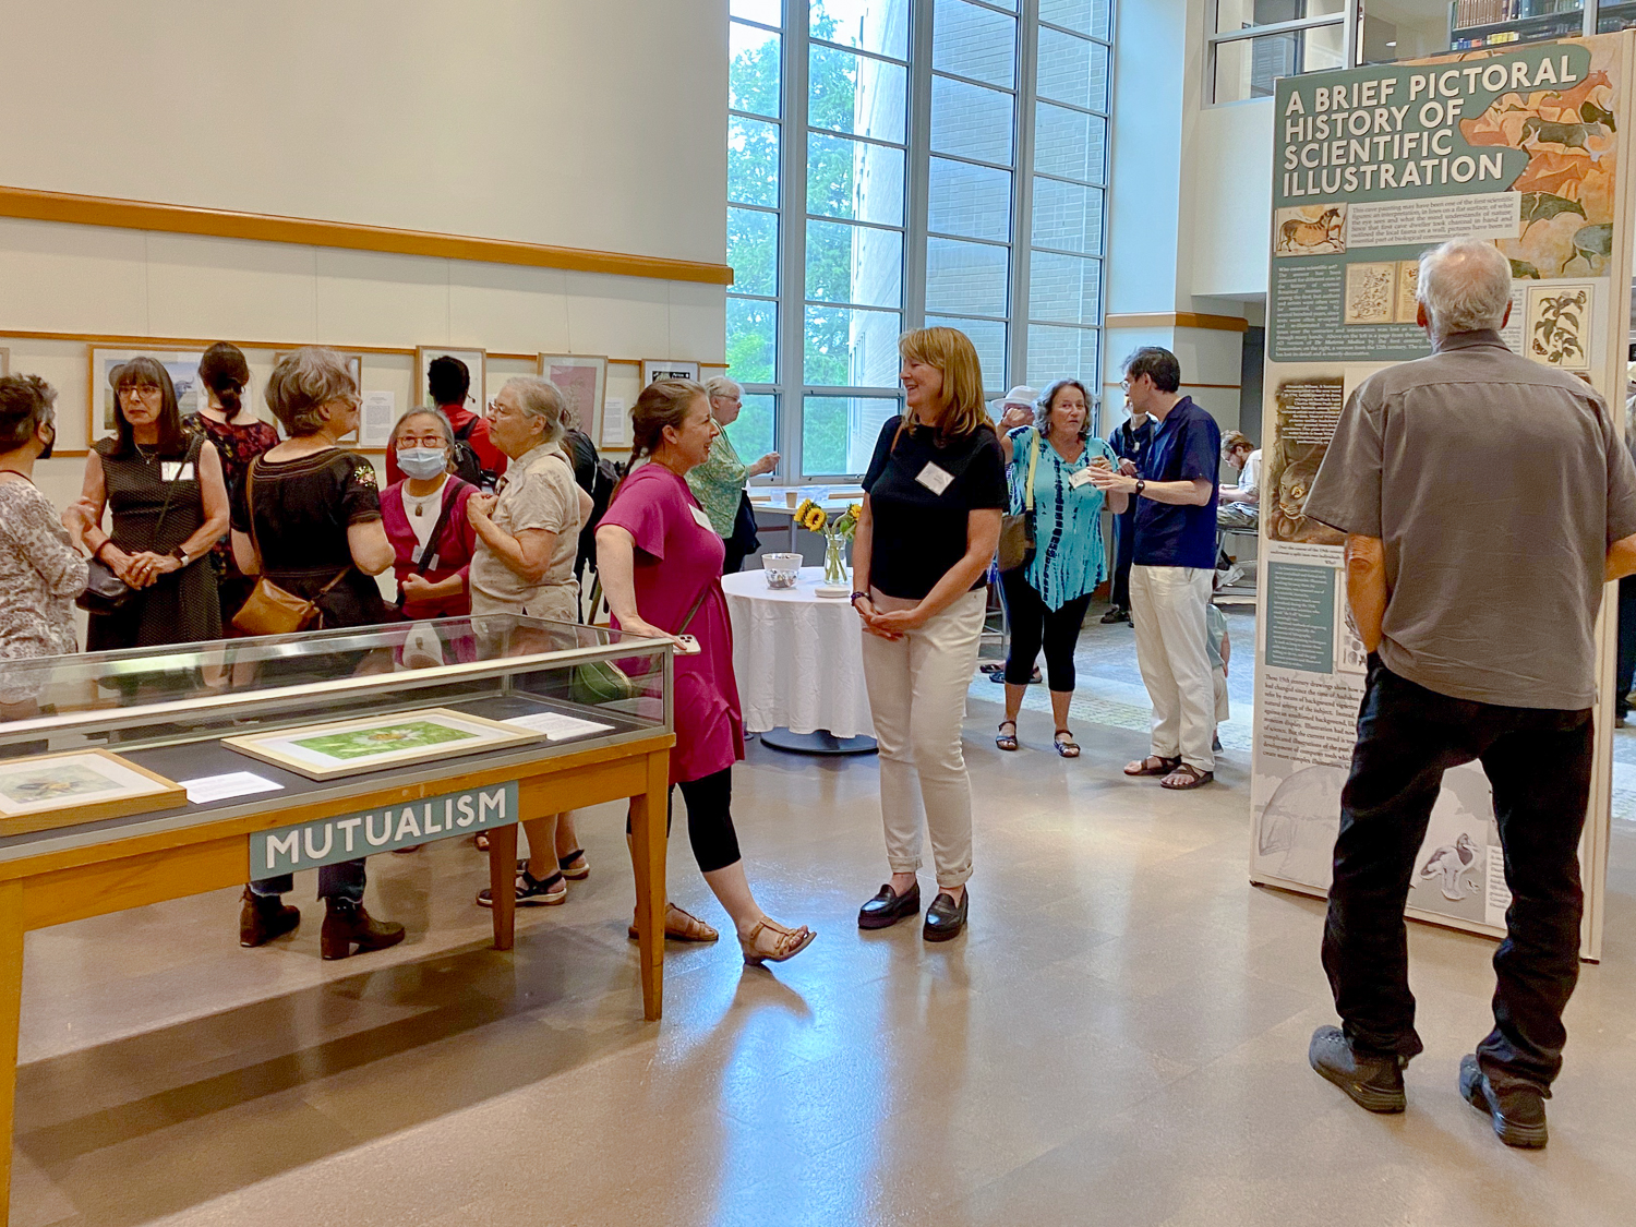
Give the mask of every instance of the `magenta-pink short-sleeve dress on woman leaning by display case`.
<svg viewBox="0 0 1636 1227">
<path fill-rule="evenodd" d="M 636 610 L 646 622 L 681 633 L 687 610 L 705 594 L 687 627 L 700 653 L 676 658 L 671 784 L 715 775 L 744 757 L 733 625 L 721 594 L 721 538 L 687 483 L 653 463 L 625 479 L 602 524 L 617 524 L 636 542 Z"/>
</svg>

